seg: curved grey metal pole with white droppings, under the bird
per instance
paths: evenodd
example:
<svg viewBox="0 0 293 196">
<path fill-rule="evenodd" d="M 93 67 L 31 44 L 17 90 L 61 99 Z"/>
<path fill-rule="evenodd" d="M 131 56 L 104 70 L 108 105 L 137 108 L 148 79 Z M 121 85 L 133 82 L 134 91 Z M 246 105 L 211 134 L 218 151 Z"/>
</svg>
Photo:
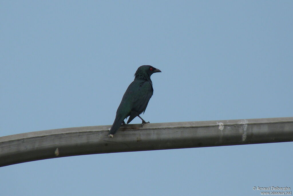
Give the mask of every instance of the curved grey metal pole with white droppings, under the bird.
<svg viewBox="0 0 293 196">
<path fill-rule="evenodd" d="M 0 137 L 0 166 L 56 157 L 293 141 L 293 117 L 122 125 L 35 131 Z"/>
</svg>

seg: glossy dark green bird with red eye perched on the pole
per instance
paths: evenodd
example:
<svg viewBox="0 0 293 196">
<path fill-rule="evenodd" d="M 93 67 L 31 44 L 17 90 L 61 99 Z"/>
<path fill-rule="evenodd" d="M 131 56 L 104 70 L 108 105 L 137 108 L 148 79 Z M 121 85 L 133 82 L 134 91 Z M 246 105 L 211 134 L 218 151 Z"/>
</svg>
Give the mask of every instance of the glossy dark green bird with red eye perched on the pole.
<svg viewBox="0 0 293 196">
<path fill-rule="evenodd" d="M 135 78 L 125 91 L 117 109 L 115 121 L 109 132 L 110 138 L 113 137 L 113 134 L 120 128 L 121 124 L 125 124 L 124 119 L 128 116 L 130 117 L 127 124 L 136 116 L 142 120 L 142 126 L 145 123 L 149 123 L 144 121 L 139 114 L 146 110 L 149 99 L 153 95 L 154 89 L 153 83 L 151 82 L 151 75 L 156 72 L 161 72 L 161 70 L 150 65 L 138 67 L 134 74 Z"/>
</svg>

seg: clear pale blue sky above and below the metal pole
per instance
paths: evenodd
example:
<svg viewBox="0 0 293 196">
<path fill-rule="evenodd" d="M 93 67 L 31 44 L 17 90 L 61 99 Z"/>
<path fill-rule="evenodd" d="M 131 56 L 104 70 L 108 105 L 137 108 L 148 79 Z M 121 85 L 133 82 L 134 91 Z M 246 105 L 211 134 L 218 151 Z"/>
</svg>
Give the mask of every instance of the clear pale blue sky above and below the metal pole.
<svg viewBox="0 0 293 196">
<path fill-rule="evenodd" d="M 292 1 L 1 1 L 0 136 L 112 124 L 140 65 L 162 71 L 151 123 L 293 116 L 292 13 Z M 260 195 L 293 188 L 292 147 L 40 160 L 0 168 L 1 195 Z"/>
</svg>

